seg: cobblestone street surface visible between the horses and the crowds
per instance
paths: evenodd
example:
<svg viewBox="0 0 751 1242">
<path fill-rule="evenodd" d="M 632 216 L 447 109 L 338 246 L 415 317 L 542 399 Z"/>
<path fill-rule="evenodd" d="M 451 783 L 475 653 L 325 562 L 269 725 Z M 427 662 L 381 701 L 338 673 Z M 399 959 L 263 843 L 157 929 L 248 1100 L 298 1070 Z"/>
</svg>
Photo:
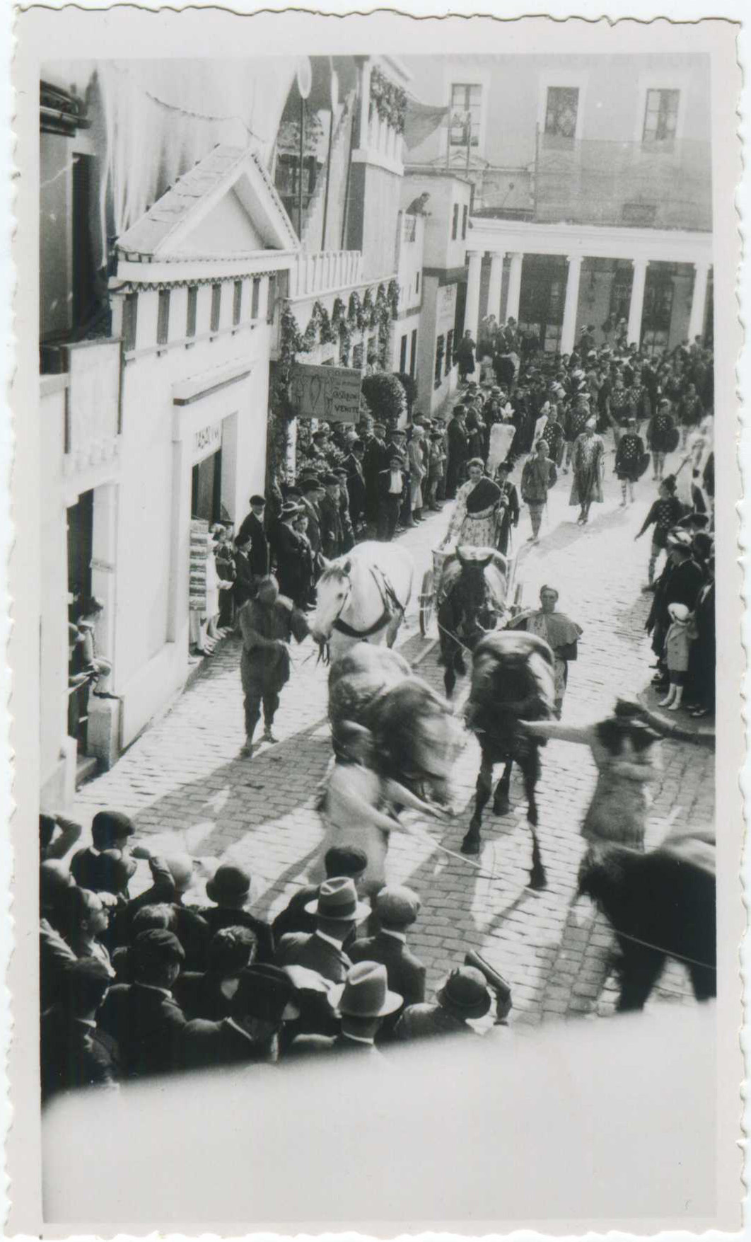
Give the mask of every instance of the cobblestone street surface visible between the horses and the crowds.
<svg viewBox="0 0 751 1242">
<path fill-rule="evenodd" d="M 650 596 L 642 592 L 649 533 L 637 543 L 634 535 L 655 484 L 644 478 L 637 502 L 621 508 L 612 463 L 608 445 L 605 503 L 592 505 L 587 527 L 576 525 L 577 509 L 569 505 L 571 476 L 561 474 L 550 493 L 540 543 L 525 542 L 530 533 L 525 508 L 514 532 L 523 606 L 534 606 L 540 586 L 547 582 L 560 591 L 561 611 L 583 627 L 564 705 L 564 718 L 572 723 L 601 718 L 617 694 L 642 691 L 650 677 L 652 652 L 644 632 Z M 516 484 L 519 473 L 520 467 Z M 442 514 L 429 514 L 400 535 L 415 558 L 416 579 L 398 648 L 441 692 L 436 622 L 422 638 L 418 594 L 431 548 L 443 537 L 448 517 L 447 505 Z M 242 863 L 253 876 L 254 912 L 273 917 L 305 882 L 322 840 L 315 801 L 330 758 L 326 669 L 310 642 L 294 648 L 292 678 L 274 722 L 279 743 L 262 744 L 248 760 L 238 755 L 245 740 L 238 661 L 237 640 L 220 643 L 171 709 L 109 773 L 78 791 L 72 814 L 87 830 L 97 810 L 118 807 L 134 816 L 139 833 L 153 847 Z M 465 691 L 467 679 L 459 679 L 457 704 Z M 653 790 L 648 847 L 662 840 L 668 826 L 700 827 L 714 816 L 711 748 L 669 740 L 659 749 L 662 773 Z M 456 818 L 421 823 L 449 850 L 458 851 L 465 832 L 478 764 L 477 743 L 467 737 L 454 776 Z M 467 949 L 475 948 L 511 985 L 516 1026 L 613 1013 L 618 991 L 609 925 L 588 899 L 573 900 L 583 853 L 578 827 L 595 781 L 586 746 L 559 741 L 545 746 L 539 836 L 549 887 L 542 892 L 525 887 L 531 838 L 516 777 L 510 814 L 498 818 L 490 807 L 484 814 L 482 871 L 420 838 L 392 833 L 389 877 L 410 884 L 422 899 L 410 944 L 426 963 L 428 991 L 463 960 Z M 134 891 L 148 883 L 148 867 L 139 863 Z M 202 881 L 196 897 L 202 897 Z M 668 964 L 649 1005 L 664 1002 L 694 1004 L 679 963 Z"/>
</svg>

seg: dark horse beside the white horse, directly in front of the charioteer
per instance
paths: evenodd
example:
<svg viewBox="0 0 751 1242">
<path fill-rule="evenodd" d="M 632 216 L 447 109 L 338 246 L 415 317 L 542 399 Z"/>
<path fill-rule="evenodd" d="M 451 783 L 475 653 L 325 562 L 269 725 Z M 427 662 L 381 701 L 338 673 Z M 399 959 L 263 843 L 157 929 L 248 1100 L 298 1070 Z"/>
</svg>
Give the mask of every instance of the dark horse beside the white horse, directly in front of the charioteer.
<svg viewBox="0 0 751 1242">
<path fill-rule="evenodd" d="M 457 673 L 467 672 L 464 652 L 494 630 L 506 591 L 505 556 L 492 548 L 457 548 L 456 560 L 443 569 L 438 604 L 443 684 L 451 698 Z"/>
</svg>

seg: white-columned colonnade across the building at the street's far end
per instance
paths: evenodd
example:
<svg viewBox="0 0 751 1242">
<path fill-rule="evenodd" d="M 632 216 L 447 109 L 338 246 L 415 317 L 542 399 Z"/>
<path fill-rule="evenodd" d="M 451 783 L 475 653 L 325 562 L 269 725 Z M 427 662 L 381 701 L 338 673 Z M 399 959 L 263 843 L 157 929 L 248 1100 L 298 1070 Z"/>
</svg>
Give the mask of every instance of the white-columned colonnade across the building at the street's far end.
<svg viewBox="0 0 751 1242">
<path fill-rule="evenodd" d="M 570 354 L 581 329 L 627 320 L 648 353 L 711 337 L 711 236 L 678 230 L 521 225 L 473 219 L 464 328 L 514 318 L 546 350 Z"/>
</svg>

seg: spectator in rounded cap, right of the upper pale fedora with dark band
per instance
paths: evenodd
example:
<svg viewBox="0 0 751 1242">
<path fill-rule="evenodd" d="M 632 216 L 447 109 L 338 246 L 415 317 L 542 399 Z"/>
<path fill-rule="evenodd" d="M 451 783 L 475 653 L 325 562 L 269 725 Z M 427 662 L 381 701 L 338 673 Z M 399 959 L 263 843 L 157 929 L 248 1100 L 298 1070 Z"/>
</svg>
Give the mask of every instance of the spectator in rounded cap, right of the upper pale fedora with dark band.
<svg viewBox="0 0 751 1242">
<path fill-rule="evenodd" d="M 379 932 L 355 940 L 349 949 L 353 961 L 379 961 L 385 966 L 389 987 L 403 996 L 406 1006 L 425 1001 L 426 968 L 407 948 L 406 934 L 418 913 L 417 893 L 400 884 L 387 884 L 375 898 Z"/>
</svg>

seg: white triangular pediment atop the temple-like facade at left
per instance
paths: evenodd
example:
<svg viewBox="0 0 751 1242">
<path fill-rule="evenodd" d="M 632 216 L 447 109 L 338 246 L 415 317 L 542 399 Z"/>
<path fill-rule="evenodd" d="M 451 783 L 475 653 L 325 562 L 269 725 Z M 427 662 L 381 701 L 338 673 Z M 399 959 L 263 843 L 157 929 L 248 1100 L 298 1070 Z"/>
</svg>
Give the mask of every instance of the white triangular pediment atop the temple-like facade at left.
<svg viewBox="0 0 751 1242">
<path fill-rule="evenodd" d="M 123 256 L 240 258 L 298 250 L 299 241 L 256 152 L 215 147 L 118 238 Z"/>
</svg>

